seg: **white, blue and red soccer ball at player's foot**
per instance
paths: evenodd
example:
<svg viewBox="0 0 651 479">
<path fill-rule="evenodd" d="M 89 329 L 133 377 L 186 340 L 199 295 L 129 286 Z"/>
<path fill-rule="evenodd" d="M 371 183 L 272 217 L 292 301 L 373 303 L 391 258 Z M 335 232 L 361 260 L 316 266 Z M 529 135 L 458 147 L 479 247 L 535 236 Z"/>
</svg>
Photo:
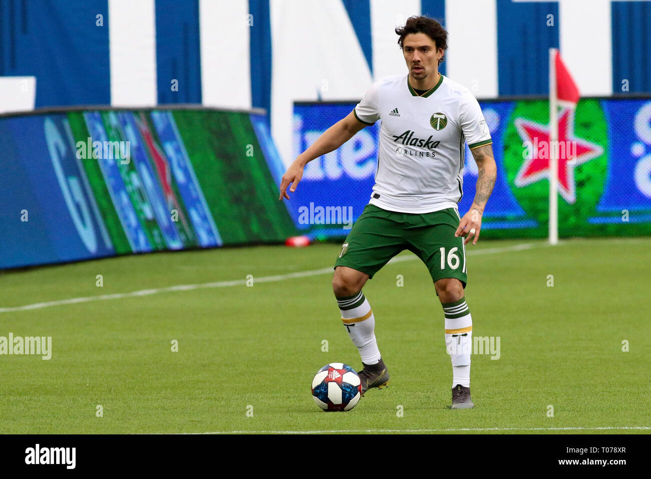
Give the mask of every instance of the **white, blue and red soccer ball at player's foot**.
<svg viewBox="0 0 651 479">
<path fill-rule="evenodd" d="M 362 396 L 355 370 L 342 362 L 331 362 L 312 379 L 312 398 L 324 411 L 350 411 Z"/>
</svg>

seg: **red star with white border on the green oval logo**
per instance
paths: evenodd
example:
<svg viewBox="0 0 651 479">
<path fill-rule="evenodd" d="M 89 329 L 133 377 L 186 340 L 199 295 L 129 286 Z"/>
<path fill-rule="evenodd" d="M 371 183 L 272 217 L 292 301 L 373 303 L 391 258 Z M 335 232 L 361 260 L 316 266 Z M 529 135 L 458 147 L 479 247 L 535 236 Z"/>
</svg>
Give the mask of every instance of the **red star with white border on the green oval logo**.
<svg viewBox="0 0 651 479">
<path fill-rule="evenodd" d="M 529 154 L 514 180 L 521 188 L 527 184 L 549 179 L 549 125 L 534 123 L 524 118 L 514 122 L 523 142 L 527 142 Z M 564 109 L 559 117 L 559 193 L 568 203 L 576 201 L 574 168 L 598 158 L 603 148 L 596 143 L 574 136 L 574 110 Z"/>
</svg>

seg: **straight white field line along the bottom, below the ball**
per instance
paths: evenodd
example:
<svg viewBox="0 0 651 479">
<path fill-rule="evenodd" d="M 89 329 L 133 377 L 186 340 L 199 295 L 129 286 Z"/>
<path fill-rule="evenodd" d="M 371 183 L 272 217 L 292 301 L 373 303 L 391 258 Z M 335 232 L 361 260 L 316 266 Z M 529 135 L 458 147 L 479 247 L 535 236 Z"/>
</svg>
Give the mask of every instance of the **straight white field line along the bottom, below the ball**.
<svg viewBox="0 0 651 479">
<path fill-rule="evenodd" d="M 648 430 L 651 426 L 603 426 L 597 428 L 459 428 L 459 429 L 332 429 L 324 431 L 216 431 L 210 433 L 180 434 L 327 434 L 327 433 L 448 433 L 467 431 L 601 431 Z"/>
</svg>

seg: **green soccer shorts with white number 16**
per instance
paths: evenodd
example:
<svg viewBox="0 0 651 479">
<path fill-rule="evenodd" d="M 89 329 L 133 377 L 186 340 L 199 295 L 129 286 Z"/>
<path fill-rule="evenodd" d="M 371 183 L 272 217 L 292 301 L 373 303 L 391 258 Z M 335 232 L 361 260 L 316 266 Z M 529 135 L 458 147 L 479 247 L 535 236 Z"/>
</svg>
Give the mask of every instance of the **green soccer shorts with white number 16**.
<svg viewBox="0 0 651 479">
<path fill-rule="evenodd" d="M 436 282 L 457 278 L 466 285 L 464 237 L 454 237 L 456 209 L 415 214 L 366 205 L 342 245 L 335 268 L 346 266 L 373 277 L 402 250 L 417 255 Z"/>
</svg>

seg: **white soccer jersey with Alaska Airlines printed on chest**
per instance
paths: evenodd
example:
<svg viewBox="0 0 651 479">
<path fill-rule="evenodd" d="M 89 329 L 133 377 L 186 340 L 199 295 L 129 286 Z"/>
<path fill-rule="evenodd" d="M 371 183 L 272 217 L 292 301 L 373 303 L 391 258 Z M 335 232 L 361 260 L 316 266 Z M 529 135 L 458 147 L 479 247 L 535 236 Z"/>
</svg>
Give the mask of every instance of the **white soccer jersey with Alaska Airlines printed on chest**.
<svg viewBox="0 0 651 479">
<path fill-rule="evenodd" d="M 386 210 L 456 208 L 463 196 L 465 141 L 471 149 L 492 143 L 475 96 L 443 75 L 422 96 L 408 75 L 382 78 L 353 113 L 364 124 L 382 121 L 370 203 Z"/>
</svg>

